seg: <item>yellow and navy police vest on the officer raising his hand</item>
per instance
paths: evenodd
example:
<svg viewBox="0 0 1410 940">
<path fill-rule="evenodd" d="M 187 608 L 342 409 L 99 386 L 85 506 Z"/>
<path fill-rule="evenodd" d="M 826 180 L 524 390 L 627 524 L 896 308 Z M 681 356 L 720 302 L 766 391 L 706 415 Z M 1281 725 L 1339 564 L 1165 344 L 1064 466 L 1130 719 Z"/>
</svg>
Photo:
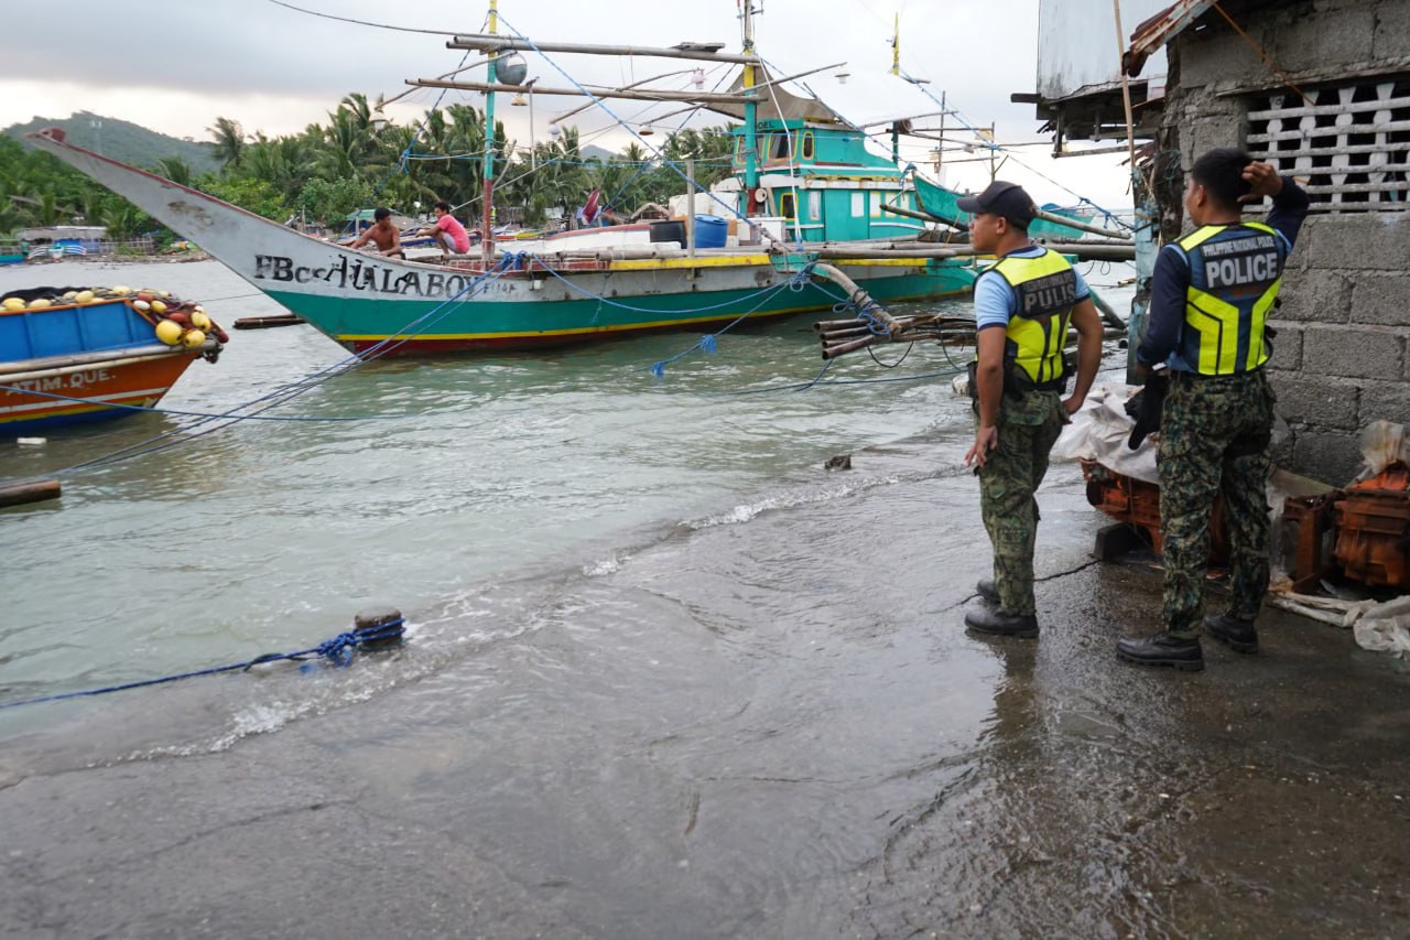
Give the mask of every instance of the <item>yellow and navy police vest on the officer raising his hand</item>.
<svg viewBox="0 0 1410 940">
<path fill-rule="evenodd" d="M 1190 264 L 1180 354 L 1200 375 L 1248 373 L 1268 361 L 1268 312 L 1283 285 L 1287 247 L 1258 222 L 1203 226 L 1179 241 Z"/>
</svg>

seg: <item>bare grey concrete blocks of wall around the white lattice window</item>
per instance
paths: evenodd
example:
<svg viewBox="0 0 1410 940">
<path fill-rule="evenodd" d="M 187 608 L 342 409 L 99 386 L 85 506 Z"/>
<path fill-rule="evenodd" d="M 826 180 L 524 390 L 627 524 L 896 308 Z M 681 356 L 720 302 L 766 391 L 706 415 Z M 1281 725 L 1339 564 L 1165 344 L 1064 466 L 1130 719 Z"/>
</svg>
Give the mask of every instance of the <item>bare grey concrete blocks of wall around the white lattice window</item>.
<svg viewBox="0 0 1410 940">
<path fill-rule="evenodd" d="M 1410 72 L 1406 0 L 1227 0 L 1224 8 L 1294 80 L 1362 69 Z M 1163 123 L 1189 168 L 1211 147 L 1242 147 L 1246 99 L 1279 85 L 1217 13 L 1176 40 Z M 1189 226 L 1186 226 L 1189 227 Z M 1361 470 L 1372 421 L 1410 425 L 1410 212 L 1313 213 L 1289 260 L 1269 378 L 1286 435 L 1279 464 L 1331 484 Z"/>
</svg>

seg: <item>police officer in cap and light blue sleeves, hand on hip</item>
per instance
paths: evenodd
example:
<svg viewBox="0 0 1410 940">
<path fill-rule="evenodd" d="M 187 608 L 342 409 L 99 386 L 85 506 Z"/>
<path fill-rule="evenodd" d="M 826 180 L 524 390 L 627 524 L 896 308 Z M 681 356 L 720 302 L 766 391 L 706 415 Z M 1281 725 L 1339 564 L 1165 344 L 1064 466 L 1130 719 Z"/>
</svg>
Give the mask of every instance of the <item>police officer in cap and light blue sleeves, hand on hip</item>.
<svg viewBox="0 0 1410 940">
<path fill-rule="evenodd" d="M 970 244 L 998 261 L 974 284 L 979 358 L 970 395 L 979 425 L 964 466 L 976 464 L 980 512 L 994 548 L 994 577 L 979 583 L 984 608 L 964 615 L 981 634 L 1036 637 L 1034 491 L 1069 415 L 1081 408 L 1101 360 L 1101 320 L 1081 275 L 1056 251 L 1028 239 L 1034 200 L 1017 183 L 994 181 L 959 207 L 973 213 Z M 1077 329 L 1077 384 L 1070 398 L 1063 347 Z"/>
</svg>

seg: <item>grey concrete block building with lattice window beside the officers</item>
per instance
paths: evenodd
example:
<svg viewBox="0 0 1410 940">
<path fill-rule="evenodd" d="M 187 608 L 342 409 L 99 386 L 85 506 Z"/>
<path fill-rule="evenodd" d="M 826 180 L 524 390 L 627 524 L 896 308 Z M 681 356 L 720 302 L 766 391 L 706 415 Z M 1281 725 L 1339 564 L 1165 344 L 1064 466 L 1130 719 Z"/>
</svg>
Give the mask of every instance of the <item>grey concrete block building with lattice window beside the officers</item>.
<svg viewBox="0 0 1410 940">
<path fill-rule="evenodd" d="M 1151 183 L 1138 200 L 1155 209 L 1146 215 L 1163 240 L 1187 227 L 1183 175 L 1211 147 L 1244 147 L 1313 198 L 1273 320 L 1269 375 L 1292 432 L 1277 456 L 1345 483 L 1359 470 L 1362 428 L 1410 422 L 1410 3 L 1121 0 L 1121 11 Z M 1115 35 L 1112 4 L 1045 0 L 1041 28 L 1076 16 L 1089 18 L 1087 64 L 1105 80 L 1072 88 L 1041 75 L 1036 95 L 1015 97 L 1058 134 L 1124 138 L 1115 45 L 1098 48 L 1096 35 Z M 1067 51 L 1076 75 L 1081 51 Z"/>
</svg>

